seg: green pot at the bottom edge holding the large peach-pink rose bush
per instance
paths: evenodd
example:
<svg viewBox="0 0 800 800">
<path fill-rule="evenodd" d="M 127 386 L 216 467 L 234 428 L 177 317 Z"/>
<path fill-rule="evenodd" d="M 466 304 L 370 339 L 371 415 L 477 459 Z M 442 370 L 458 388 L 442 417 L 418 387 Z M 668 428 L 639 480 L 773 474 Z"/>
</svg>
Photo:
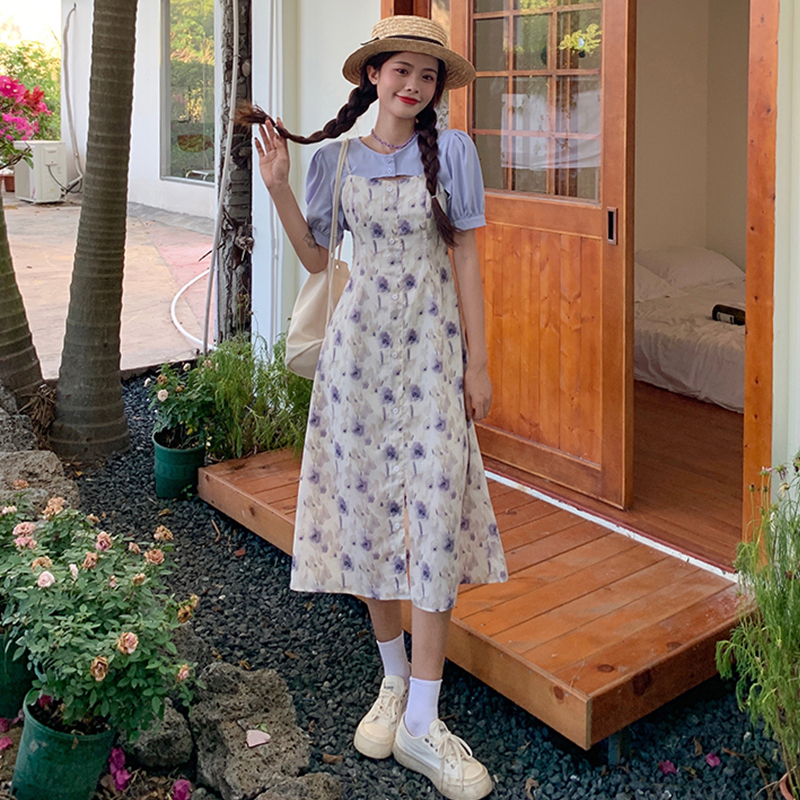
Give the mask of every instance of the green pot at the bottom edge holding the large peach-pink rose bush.
<svg viewBox="0 0 800 800">
<path fill-rule="evenodd" d="M 60 733 L 42 725 L 27 706 L 24 713 L 11 794 L 17 800 L 91 800 L 111 754 L 114 730 Z"/>
</svg>

